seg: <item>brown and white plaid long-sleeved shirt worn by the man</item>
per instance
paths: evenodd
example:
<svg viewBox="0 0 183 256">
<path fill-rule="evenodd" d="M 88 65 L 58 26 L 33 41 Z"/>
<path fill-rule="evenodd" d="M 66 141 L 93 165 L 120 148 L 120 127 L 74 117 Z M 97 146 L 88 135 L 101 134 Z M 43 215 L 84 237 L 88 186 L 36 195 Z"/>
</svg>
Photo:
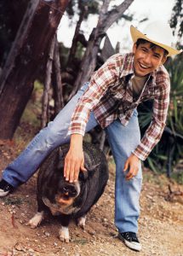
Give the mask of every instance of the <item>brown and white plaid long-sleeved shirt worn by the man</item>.
<svg viewBox="0 0 183 256">
<path fill-rule="evenodd" d="M 133 97 L 132 82 L 134 77 L 134 55 L 112 55 L 91 77 L 89 88 L 77 102 L 71 118 L 68 134 L 78 133 L 84 136 L 90 111 L 102 128 L 120 119 L 128 125 L 134 108 L 149 99 L 153 99 L 152 122 L 146 130 L 140 144 L 133 153 L 146 160 L 152 148 L 160 140 L 169 108 L 169 73 L 160 66 L 150 73 L 140 96 Z"/>
</svg>

